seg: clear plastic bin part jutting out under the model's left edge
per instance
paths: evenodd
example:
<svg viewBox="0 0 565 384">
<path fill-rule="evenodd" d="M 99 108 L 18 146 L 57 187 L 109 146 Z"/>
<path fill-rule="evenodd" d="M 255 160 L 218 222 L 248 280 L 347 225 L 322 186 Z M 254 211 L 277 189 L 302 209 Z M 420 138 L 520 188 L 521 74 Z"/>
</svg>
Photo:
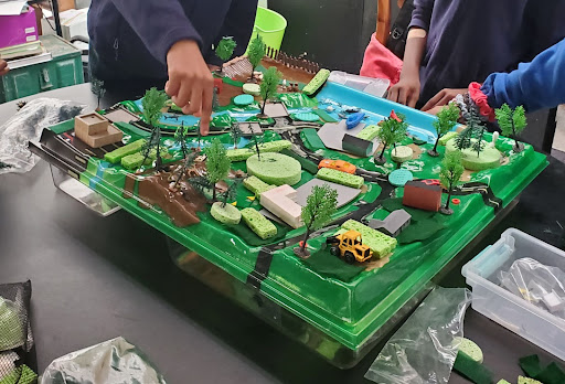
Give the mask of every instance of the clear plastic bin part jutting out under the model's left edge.
<svg viewBox="0 0 565 384">
<path fill-rule="evenodd" d="M 53 164 L 50 164 L 50 168 L 55 186 L 81 204 L 87 206 L 90 211 L 100 216 L 109 216 L 114 212 L 119 211 L 120 206 L 118 204 L 104 198 L 68 173 L 63 172 Z"/>
</svg>

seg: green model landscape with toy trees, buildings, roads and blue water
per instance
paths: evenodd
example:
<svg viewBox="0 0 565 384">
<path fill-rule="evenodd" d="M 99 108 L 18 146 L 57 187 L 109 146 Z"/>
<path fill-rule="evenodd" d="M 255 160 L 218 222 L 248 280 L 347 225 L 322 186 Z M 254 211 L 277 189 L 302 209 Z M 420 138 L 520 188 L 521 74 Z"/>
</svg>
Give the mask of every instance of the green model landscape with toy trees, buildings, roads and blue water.
<svg viewBox="0 0 565 384">
<path fill-rule="evenodd" d="M 233 47 L 226 39 L 217 54 Z M 42 150 L 355 350 L 546 160 L 488 132 L 472 108 L 459 126 L 455 104 L 434 118 L 266 54 L 256 39 L 248 58 L 216 74 L 211 136 L 152 88 L 52 127 Z M 525 127 L 521 108 L 497 117 L 513 137 Z"/>
</svg>

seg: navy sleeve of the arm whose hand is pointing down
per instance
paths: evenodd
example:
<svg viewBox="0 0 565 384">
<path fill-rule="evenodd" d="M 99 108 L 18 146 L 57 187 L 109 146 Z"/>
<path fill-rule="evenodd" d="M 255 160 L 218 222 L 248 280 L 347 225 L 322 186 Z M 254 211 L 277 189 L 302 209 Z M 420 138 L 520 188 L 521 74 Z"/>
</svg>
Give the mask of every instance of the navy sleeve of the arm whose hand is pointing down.
<svg viewBox="0 0 565 384">
<path fill-rule="evenodd" d="M 113 0 L 113 3 L 161 63 L 167 63 L 167 53 L 180 40 L 193 40 L 202 50 L 202 39 L 178 0 Z"/>
</svg>

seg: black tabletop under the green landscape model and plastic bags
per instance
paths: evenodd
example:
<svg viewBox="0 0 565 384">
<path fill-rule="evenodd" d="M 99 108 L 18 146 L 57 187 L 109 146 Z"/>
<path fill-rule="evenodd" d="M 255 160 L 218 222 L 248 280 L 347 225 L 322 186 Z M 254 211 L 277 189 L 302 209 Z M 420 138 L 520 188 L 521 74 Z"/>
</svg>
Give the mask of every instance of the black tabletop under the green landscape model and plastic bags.
<svg viewBox="0 0 565 384">
<path fill-rule="evenodd" d="M 26 99 L 45 96 L 96 105 L 87 84 Z M 103 106 L 119 97 L 128 98 L 108 95 Z M 15 102 L 0 105 L 0 125 L 14 113 Z M 550 161 L 471 256 L 508 227 L 565 246 L 565 205 L 556 204 L 565 191 L 565 164 Z M 0 175 L 0 282 L 32 280 L 40 371 L 57 356 L 122 335 L 169 383 L 370 383 L 363 375 L 377 349 L 352 370 L 329 365 L 182 273 L 157 230 L 124 211 L 100 217 L 58 191 L 44 161 L 26 174 Z M 440 284 L 465 286 L 460 265 Z M 465 335 L 482 348 L 497 380 L 515 382 L 521 356 L 556 360 L 471 309 Z M 468 382 L 454 374 L 450 383 Z"/>
</svg>

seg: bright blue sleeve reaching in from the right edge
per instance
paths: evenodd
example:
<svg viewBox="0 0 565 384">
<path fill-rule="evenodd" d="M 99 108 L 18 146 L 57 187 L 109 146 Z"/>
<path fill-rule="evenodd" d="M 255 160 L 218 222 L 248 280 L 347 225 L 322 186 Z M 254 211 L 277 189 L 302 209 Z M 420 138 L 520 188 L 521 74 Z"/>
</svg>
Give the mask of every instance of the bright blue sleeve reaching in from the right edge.
<svg viewBox="0 0 565 384">
<path fill-rule="evenodd" d="M 491 74 L 481 90 L 492 108 L 507 103 L 512 108 L 523 105 L 533 111 L 565 103 L 565 40 L 511 73 Z"/>
</svg>

